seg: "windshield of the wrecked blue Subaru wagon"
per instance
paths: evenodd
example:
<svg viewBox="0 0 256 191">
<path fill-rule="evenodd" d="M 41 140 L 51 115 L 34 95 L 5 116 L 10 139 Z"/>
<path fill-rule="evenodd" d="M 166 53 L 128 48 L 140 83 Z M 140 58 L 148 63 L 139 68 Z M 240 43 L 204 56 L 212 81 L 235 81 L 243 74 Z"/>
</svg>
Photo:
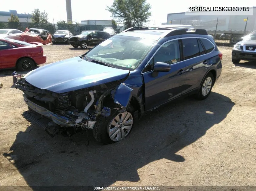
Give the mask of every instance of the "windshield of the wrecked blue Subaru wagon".
<svg viewBox="0 0 256 191">
<path fill-rule="evenodd" d="M 91 49 L 86 57 L 115 68 L 135 70 L 155 44 L 153 40 L 115 35 Z"/>
</svg>

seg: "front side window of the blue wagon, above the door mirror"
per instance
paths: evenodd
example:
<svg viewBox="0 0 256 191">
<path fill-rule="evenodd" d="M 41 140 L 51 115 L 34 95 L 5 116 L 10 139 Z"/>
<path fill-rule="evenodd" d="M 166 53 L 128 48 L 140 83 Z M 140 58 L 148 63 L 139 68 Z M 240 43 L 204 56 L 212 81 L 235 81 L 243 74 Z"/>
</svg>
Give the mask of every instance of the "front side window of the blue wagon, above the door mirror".
<svg viewBox="0 0 256 191">
<path fill-rule="evenodd" d="M 180 46 L 178 40 L 165 43 L 156 52 L 155 56 L 150 60 L 143 72 L 153 70 L 156 62 L 165 62 L 167 64 L 175 64 L 180 62 Z"/>
</svg>

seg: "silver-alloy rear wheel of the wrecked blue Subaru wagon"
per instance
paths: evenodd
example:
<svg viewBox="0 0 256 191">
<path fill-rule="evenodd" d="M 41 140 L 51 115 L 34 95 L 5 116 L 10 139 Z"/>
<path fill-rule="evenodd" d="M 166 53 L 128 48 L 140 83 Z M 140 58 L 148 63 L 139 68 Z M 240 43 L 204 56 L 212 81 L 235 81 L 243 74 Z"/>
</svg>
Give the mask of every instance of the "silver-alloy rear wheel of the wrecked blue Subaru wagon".
<svg viewBox="0 0 256 191">
<path fill-rule="evenodd" d="M 214 84 L 214 78 L 212 73 L 209 72 L 203 80 L 200 91 L 197 94 L 197 99 L 199 100 L 206 99 L 211 93 L 213 84 Z"/>
</svg>

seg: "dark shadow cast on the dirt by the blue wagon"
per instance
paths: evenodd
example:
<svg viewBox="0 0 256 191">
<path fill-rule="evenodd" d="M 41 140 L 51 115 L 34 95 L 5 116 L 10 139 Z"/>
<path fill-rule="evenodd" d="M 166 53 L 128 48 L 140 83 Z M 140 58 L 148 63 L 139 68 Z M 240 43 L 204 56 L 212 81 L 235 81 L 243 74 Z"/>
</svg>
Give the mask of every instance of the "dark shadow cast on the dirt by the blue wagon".
<svg viewBox="0 0 256 191">
<path fill-rule="evenodd" d="M 185 161 L 177 152 L 225 119 L 234 105 L 230 98 L 215 92 L 202 101 L 188 97 L 145 115 L 125 140 L 110 145 L 96 142 L 91 131 L 88 138 L 86 132 L 51 138 L 31 125 L 17 133 L 10 152 L 3 155 L 29 186 L 138 182 L 138 169 L 153 161 Z"/>
</svg>

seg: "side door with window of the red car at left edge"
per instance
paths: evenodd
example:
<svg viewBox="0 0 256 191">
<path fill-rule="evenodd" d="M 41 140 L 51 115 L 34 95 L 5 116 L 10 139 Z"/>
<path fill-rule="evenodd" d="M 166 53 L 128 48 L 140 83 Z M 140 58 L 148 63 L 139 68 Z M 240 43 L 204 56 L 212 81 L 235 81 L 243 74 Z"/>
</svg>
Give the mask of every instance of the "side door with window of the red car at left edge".
<svg viewBox="0 0 256 191">
<path fill-rule="evenodd" d="M 17 57 L 22 55 L 22 49 L 0 40 L 0 68 L 15 67 Z"/>
</svg>

